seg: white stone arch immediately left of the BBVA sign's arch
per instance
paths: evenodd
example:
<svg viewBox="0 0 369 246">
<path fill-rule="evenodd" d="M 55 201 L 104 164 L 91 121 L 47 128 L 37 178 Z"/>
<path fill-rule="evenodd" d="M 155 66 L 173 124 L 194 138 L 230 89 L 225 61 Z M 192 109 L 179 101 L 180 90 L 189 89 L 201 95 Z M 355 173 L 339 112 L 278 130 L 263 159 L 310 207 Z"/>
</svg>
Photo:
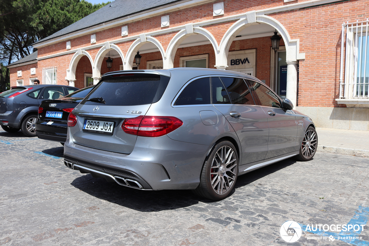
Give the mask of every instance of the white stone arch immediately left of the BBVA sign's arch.
<svg viewBox="0 0 369 246">
<path fill-rule="evenodd" d="M 204 35 L 213 45 L 215 57 L 219 55 L 219 46 L 214 36 L 205 28 L 202 27 L 193 27 L 192 24 L 186 25 L 186 29 L 179 31 L 172 40 L 170 40 L 168 48 L 166 49 L 165 59 L 163 59 L 163 68 L 170 69 L 173 68 L 174 57 L 176 55 L 177 49 L 179 45 L 185 40 L 187 37 L 194 34 L 202 34 Z M 216 58 L 215 58 L 216 59 Z"/>
</svg>

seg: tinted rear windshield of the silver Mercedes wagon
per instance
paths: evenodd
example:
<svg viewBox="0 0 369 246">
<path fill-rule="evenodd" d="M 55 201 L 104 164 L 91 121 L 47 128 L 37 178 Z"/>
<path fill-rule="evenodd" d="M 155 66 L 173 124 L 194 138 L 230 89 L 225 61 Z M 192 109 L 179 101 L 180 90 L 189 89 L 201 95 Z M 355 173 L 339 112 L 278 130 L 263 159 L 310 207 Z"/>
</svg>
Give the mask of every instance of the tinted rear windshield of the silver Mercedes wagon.
<svg viewBox="0 0 369 246">
<path fill-rule="evenodd" d="M 154 74 L 132 74 L 117 78 L 109 76 L 100 81 L 81 104 L 133 106 L 154 103 L 163 95 L 169 79 L 166 76 Z M 102 98 L 105 103 L 97 102 L 96 98 Z"/>
</svg>

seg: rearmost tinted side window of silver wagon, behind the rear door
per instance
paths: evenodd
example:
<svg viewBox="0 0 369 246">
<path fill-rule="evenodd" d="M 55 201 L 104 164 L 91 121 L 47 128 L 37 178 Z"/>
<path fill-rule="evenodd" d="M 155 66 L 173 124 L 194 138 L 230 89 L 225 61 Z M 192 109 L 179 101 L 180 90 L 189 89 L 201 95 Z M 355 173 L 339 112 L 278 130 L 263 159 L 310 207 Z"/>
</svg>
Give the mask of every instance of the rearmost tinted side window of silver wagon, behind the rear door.
<svg viewBox="0 0 369 246">
<path fill-rule="evenodd" d="M 196 79 L 182 90 L 174 105 L 210 104 L 210 78 Z"/>
</svg>

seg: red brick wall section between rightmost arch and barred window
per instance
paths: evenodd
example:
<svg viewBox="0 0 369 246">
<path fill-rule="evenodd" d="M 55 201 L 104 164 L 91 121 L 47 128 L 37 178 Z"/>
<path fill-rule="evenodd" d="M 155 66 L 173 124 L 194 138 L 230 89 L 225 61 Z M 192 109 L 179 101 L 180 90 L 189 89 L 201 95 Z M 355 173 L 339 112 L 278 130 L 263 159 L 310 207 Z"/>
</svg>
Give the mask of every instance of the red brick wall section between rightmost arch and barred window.
<svg viewBox="0 0 369 246">
<path fill-rule="evenodd" d="M 346 107 L 339 94 L 341 24 L 368 17 L 369 1 L 345 1 L 270 15 L 300 39 L 298 106 Z"/>
</svg>

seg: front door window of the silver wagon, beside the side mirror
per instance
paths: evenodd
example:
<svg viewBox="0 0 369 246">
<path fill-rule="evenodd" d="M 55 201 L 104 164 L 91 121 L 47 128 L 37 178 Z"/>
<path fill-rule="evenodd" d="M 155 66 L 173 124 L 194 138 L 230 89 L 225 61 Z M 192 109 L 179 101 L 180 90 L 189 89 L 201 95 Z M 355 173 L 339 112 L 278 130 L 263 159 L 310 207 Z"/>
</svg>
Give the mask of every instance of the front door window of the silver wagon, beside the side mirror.
<svg viewBox="0 0 369 246">
<path fill-rule="evenodd" d="M 255 92 L 254 95 L 258 99 L 259 105 L 281 108 L 279 99 L 272 90 L 255 81 L 249 81 L 249 83 Z"/>
</svg>

